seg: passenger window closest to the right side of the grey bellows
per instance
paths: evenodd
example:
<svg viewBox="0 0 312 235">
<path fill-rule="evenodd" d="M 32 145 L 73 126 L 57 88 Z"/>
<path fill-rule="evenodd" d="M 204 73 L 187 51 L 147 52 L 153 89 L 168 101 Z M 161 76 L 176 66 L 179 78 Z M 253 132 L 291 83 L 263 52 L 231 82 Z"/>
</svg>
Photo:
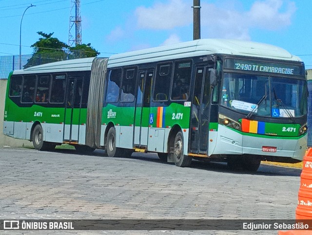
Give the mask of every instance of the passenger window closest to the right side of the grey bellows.
<svg viewBox="0 0 312 235">
<path fill-rule="evenodd" d="M 116 103 L 119 98 L 119 88 L 121 80 L 121 68 L 113 69 L 109 71 L 109 78 L 106 92 L 106 102 Z"/>
</svg>

